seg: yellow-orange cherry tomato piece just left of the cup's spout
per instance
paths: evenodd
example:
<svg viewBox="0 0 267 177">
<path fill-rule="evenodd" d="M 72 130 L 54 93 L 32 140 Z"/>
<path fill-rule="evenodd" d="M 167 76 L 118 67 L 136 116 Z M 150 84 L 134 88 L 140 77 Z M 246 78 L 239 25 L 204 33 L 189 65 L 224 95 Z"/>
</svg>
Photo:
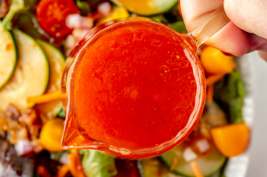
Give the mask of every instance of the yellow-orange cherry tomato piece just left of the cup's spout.
<svg viewBox="0 0 267 177">
<path fill-rule="evenodd" d="M 63 119 L 55 118 L 47 121 L 40 132 L 41 145 L 48 151 L 63 151 L 64 149 L 60 144 L 63 129 Z"/>
</svg>

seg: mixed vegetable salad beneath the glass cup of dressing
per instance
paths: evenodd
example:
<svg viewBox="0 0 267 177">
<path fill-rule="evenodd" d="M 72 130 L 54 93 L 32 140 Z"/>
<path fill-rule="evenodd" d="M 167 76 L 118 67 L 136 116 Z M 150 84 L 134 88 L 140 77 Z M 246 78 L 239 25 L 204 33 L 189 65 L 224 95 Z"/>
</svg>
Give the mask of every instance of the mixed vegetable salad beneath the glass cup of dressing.
<svg viewBox="0 0 267 177">
<path fill-rule="evenodd" d="M 66 57 L 93 27 L 114 19 L 145 16 L 187 33 L 179 2 L 0 2 L 0 176 L 220 177 L 227 158 L 246 149 L 245 88 L 235 57 L 209 46 L 198 50 L 206 75 L 205 108 L 178 146 L 138 161 L 62 149 L 66 95 L 60 86 Z"/>
</svg>

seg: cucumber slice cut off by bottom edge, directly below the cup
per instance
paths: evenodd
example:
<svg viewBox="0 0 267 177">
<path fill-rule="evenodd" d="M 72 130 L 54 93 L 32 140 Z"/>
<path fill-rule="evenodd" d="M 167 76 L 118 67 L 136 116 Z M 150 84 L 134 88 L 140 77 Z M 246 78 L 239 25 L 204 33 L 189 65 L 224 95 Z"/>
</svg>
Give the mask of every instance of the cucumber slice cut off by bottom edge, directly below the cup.
<svg viewBox="0 0 267 177">
<path fill-rule="evenodd" d="M 182 177 L 170 172 L 158 158 L 138 161 L 142 177 Z"/>
</svg>

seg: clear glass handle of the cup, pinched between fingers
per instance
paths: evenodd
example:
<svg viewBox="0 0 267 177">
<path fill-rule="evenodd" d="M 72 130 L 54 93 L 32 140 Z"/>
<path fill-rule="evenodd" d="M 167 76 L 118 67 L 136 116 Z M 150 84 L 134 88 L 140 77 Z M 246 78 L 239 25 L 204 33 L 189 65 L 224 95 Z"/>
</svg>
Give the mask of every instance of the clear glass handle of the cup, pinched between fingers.
<svg viewBox="0 0 267 177">
<path fill-rule="evenodd" d="M 195 39 L 198 46 L 206 42 L 211 36 L 220 31 L 230 19 L 227 17 L 223 6 L 220 6 L 204 20 L 198 23 L 188 34 Z"/>
</svg>

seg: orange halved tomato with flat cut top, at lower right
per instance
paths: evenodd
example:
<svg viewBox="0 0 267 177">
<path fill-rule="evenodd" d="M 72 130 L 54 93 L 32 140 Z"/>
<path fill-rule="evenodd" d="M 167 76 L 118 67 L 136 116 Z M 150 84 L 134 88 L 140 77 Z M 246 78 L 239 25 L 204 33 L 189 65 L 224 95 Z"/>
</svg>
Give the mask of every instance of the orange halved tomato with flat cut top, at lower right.
<svg viewBox="0 0 267 177">
<path fill-rule="evenodd" d="M 246 124 L 230 124 L 211 129 L 211 136 L 217 149 L 226 157 L 241 154 L 249 142 L 249 129 Z"/>
</svg>

